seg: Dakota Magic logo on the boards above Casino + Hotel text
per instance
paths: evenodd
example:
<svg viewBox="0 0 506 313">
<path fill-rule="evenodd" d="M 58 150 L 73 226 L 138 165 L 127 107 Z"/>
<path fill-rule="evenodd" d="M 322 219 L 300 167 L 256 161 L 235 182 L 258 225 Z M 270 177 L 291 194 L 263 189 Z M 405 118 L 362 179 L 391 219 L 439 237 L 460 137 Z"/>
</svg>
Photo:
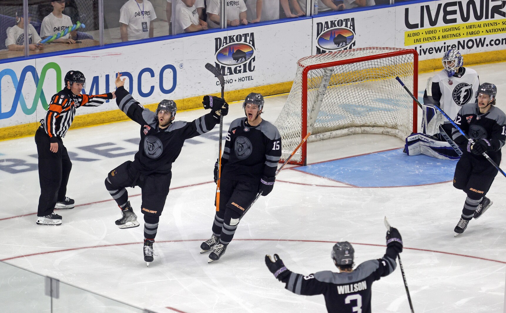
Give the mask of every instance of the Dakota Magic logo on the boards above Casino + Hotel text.
<svg viewBox="0 0 506 313">
<path fill-rule="evenodd" d="M 215 38 L 216 68 L 225 75 L 255 70 L 255 35 L 245 33 Z"/>
</svg>

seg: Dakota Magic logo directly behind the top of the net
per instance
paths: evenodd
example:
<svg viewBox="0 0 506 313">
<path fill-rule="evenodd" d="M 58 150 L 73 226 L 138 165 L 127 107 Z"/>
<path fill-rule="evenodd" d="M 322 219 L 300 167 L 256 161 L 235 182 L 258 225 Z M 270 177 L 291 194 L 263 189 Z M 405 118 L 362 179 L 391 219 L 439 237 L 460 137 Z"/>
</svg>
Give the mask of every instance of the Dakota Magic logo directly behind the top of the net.
<svg viewBox="0 0 506 313">
<path fill-rule="evenodd" d="M 316 54 L 355 47 L 355 18 L 316 23 Z"/>
</svg>

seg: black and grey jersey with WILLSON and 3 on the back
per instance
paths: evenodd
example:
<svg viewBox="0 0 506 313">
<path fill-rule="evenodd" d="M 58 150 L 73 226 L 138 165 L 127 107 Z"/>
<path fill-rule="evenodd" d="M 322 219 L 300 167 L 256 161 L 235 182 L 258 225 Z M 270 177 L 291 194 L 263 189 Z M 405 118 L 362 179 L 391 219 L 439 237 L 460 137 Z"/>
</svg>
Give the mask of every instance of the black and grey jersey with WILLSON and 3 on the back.
<svg viewBox="0 0 506 313">
<path fill-rule="evenodd" d="M 282 282 L 296 294 L 323 294 L 329 313 L 370 313 L 372 283 L 394 272 L 396 258 L 391 247 L 381 259 L 365 261 L 351 273 L 324 271 L 303 276 L 290 272 Z"/>
</svg>

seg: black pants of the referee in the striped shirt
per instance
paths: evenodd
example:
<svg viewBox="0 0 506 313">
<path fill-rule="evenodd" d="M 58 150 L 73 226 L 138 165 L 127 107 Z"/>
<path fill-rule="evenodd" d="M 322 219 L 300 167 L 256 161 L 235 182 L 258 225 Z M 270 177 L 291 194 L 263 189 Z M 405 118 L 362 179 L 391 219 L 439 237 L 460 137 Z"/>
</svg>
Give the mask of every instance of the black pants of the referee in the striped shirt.
<svg viewBox="0 0 506 313">
<path fill-rule="evenodd" d="M 49 136 L 40 127 L 35 132 L 35 144 L 37 145 L 40 184 L 37 216 L 46 216 L 53 213 L 57 201 L 65 200 L 72 162 L 61 138 L 58 138 L 58 151 L 49 150 L 51 145 Z"/>
</svg>

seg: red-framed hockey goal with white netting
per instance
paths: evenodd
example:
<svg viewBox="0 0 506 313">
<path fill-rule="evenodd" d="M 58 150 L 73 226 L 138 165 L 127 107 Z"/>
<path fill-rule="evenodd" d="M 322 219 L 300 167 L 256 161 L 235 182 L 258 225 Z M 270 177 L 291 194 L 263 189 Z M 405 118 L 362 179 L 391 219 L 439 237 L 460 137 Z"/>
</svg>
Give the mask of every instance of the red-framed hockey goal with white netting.
<svg viewBox="0 0 506 313">
<path fill-rule="evenodd" d="M 358 48 L 299 60 L 288 99 L 275 125 L 281 160 L 308 132 L 308 142 L 382 133 L 404 140 L 416 132 L 416 103 L 396 77 L 417 95 L 418 54 L 399 48 Z M 290 160 L 306 164 L 305 143 Z"/>
</svg>

